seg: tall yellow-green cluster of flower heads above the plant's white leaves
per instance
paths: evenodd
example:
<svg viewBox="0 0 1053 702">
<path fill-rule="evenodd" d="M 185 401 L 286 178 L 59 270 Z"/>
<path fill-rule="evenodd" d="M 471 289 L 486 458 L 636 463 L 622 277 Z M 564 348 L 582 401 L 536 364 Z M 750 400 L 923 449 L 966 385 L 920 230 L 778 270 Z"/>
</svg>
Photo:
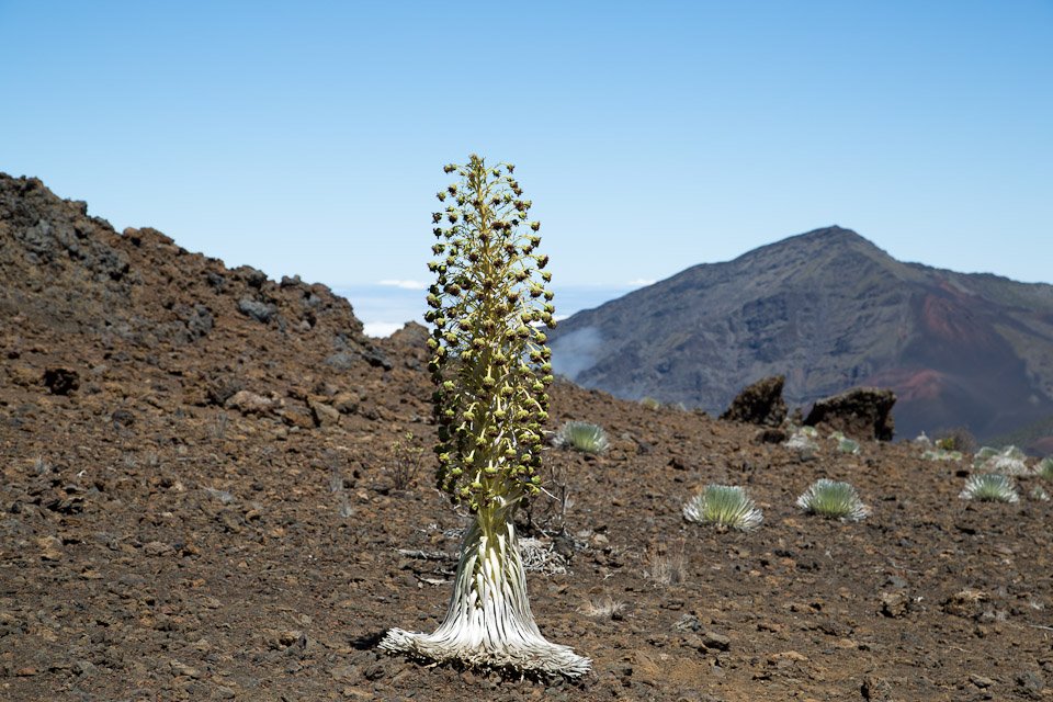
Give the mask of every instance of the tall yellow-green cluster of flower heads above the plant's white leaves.
<svg viewBox="0 0 1053 702">
<path fill-rule="evenodd" d="M 473 510 L 539 490 L 542 426 L 553 381 L 543 331 L 554 327 L 541 225 L 514 167 L 476 155 L 443 169 L 458 182 L 432 213 L 435 282 L 426 319 L 439 423 L 439 487 Z"/>
</svg>

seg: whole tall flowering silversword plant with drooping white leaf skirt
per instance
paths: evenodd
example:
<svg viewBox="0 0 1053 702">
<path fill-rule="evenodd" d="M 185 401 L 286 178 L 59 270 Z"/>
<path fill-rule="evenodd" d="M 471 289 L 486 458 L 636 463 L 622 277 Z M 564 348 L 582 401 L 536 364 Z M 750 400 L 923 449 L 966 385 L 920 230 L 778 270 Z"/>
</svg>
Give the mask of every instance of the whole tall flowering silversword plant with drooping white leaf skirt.
<svg viewBox="0 0 1053 702">
<path fill-rule="evenodd" d="M 514 167 L 488 167 L 476 155 L 446 173 L 432 214 L 438 242 L 429 269 L 432 325 L 429 370 L 439 441 L 439 487 L 468 507 L 474 521 L 446 616 L 434 633 L 390 630 L 380 646 L 433 661 L 576 677 L 591 661 L 547 642 L 526 597 L 513 516 L 540 490 L 542 424 L 548 418 L 553 327 L 548 257 L 540 224 Z"/>
</svg>

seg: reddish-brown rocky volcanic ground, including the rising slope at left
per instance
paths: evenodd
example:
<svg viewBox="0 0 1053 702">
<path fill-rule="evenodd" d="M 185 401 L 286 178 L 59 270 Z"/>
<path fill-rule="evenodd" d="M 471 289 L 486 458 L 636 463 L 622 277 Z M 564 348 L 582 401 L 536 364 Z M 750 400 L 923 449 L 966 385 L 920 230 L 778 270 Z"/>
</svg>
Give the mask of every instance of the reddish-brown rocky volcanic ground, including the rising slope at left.
<svg viewBox="0 0 1053 702">
<path fill-rule="evenodd" d="M 972 503 L 966 466 L 907 444 L 846 456 L 824 441 L 801 462 L 756 428 L 567 384 L 553 428 L 597 422 L 613 445 L 550 452 L 550 486 L 573 500 L 555 540 L 570 563 L 530 590 L 543 633 L 595 672 L 543 682 L 380 656 L 387 627 L 441 620 L 455 564 L 438 554 L 465 524 L 428 465 L 393 484 L 392 442 L 433 437 L 421 330 L 370 341 L 322 286 L 116 235 L 0 180 L 2 700 L 1053 698 L 1053 503 L 1027 497 L 1040 478 L 1020 479 L 1017 505 Z M 30 256 L 19 233 L 39 222 L 88 253 L 59 237 Z M 239 312 L 246 298 L 273 305 L 267 321 Z M 802 514 L 796 496 L 823 476 L 873 513 Z M 745 486 L 761 528 L 686 523 L 706 483 Z M 555 531 L 551 507 L 533 517 Z M 608 599 L 614 616 L 586 613 Z"/>
</svg>

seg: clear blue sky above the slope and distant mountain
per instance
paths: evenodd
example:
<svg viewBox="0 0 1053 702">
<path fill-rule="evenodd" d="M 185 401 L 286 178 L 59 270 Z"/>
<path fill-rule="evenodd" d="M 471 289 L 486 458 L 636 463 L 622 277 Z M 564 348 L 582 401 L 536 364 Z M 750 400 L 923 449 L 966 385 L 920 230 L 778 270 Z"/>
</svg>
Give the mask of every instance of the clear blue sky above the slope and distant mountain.
<svg viewBox="0 0 1053 702">
<path fill-rule="evenodd" d="M 0 0 L 0 171 L 363 297 L 472 151 L 579 306 L 829 224 L 1053 282 L 1050 0 Z"/>
</svg>

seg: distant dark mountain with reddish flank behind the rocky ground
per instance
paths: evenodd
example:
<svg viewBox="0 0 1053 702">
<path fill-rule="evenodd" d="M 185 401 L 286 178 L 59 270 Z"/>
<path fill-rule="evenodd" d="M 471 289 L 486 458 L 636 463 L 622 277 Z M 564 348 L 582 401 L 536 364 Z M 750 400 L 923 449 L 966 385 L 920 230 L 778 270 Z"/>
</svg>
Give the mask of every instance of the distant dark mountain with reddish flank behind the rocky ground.
<svg viewBox="0 0 1053 702">
<path fill-rule="evenodd" d="M 1053 416 L 1053 286 L 904 263 L 830 226 L 689 268 L 552 335 L 587 387 L 718 412 L 786 376 L 789 403 L 891 387 L 897 432 L 985 439 Z"/>
</svg>

